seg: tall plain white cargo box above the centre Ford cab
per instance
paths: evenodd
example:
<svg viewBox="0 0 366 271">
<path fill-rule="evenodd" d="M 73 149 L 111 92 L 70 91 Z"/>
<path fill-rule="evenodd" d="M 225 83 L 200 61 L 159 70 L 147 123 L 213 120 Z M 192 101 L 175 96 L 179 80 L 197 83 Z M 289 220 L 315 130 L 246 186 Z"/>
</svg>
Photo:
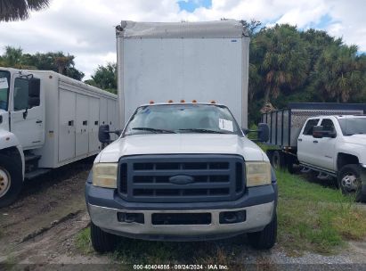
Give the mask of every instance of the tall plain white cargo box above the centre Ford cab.
<svg viewBox="0 0 366 271">
<path fill-rule="evenodd" d="M 215 100 L 248 127 L 248 46 L 239 21 L 122 21 L 117 27 L 120 127 L 150 100 Z"/>
</svg>

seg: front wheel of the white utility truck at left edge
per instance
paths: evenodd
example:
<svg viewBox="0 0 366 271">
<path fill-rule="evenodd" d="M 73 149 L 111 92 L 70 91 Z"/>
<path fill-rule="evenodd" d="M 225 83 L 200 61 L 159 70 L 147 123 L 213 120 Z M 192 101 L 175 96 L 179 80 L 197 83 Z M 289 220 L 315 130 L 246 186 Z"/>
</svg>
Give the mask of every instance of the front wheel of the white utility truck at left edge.
<svg viewBox="0 0 366 271">
<path fill-rule="evenodd" d="M 0 154 L 0 208 L 12 204 L 23 185 L 21 164 L 4 154 Z"/>
</svg>

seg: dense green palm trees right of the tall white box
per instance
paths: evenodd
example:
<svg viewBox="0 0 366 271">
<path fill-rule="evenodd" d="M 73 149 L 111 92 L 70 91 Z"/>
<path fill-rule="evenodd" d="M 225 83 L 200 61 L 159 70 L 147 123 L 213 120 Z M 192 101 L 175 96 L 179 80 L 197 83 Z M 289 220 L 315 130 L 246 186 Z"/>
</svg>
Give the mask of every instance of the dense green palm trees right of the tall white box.
<svg viewBox="0 0 366 271">
<path fill-rule="evenodd" d="M 262 28 L 244 22 L 251 37 L 248 114 L 260 120 L 267 102 L 364 103 L 366 55 L 325 31 L 301 31 L 287 24 Z M 254 30 L 251 30 L 254 29 Z"/>
</svg>

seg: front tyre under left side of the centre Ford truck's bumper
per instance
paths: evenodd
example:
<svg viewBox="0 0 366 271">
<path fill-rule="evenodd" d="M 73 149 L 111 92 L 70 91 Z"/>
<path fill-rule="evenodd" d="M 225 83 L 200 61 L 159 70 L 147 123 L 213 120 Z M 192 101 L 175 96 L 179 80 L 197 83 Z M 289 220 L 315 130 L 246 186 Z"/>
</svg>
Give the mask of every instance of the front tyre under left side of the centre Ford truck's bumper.
<svg viewBox="0 0 366 271">
<path fill-rule="evenodd" d="M 95 226 L 92 222 L 90 225 L 90 237 L 92 245 L 97 252 L 110 252 L 116 248 L 118 236 L 103 232 L 99 226 Z"/>
</svg>

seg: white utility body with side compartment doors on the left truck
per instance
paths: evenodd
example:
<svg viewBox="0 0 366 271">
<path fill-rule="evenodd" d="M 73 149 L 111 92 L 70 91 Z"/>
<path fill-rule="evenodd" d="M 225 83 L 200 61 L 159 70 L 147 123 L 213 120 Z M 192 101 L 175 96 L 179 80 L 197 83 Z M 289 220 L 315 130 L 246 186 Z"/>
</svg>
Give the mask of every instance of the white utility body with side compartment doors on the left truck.
<svg viewBox="0 0 366 271">
<path fill-rule="evenodd" d="M 40 168 L 58 168 L 100 151 L 98 128 L 117 127 L 117 95 L 53 71 L 28 70 L 45 89 L 45 143 Z"/>
</svg>

